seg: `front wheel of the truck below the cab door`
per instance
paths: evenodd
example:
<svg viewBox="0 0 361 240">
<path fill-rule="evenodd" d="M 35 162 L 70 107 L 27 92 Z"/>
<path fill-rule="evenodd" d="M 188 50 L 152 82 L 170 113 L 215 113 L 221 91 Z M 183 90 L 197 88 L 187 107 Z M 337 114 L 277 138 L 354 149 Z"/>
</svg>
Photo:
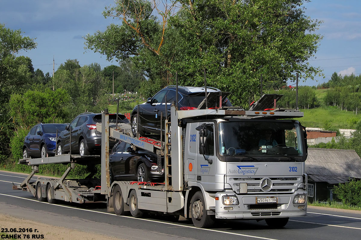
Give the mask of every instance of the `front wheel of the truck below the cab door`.
<svg viewBox="0 0 361 240">
<path fill-rule="evenodd" d="M 197 191 L 191 199 L 192 222 L 195 227 L 208 228 L 214 224 L 214 216 L 208 215 L 201 191 Z"/>
</svg>

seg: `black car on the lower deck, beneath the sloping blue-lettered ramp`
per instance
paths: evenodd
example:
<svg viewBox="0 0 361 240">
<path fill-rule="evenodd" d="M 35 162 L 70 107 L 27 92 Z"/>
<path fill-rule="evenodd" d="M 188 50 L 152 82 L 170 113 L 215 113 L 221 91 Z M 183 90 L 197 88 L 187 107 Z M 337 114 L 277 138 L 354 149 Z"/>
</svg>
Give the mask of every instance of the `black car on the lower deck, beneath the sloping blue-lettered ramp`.
<svg viewBox="0 0 361 240">
<path fill-rule="evenodd" d="M 162 159 L 163 162 L 163 159 Z M 131 148 L 119 141 L 109 155 L 110 181 L 164 182 L 163 167 L 158 171 L 157 155 L 146 150 Z"/>
</svg>

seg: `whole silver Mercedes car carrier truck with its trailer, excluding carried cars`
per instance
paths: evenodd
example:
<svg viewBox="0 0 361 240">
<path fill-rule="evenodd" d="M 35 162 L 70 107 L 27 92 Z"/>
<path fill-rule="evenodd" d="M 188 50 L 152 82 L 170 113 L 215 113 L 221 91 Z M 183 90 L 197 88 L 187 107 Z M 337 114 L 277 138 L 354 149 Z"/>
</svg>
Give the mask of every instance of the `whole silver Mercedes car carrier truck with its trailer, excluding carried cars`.
<svg viewBox="0 0 361 240">
<path fill-rule="evenodd" d="M 178 110 L 172 104 L 161 141 L 133 137 L 130 124 L 109 124 L 105 109 L 97 123 L 101 156 L 20 159 L 32 166 L 32 172 L 13 189 L 27 190 L 49 203 L 104 201 L 108 212 L 117 215 L 129 211 L 134 217 L 144 212 L 183 216 L 200 228 L 217 219 L 265 219 L 271 227 L 283 227 L 289 217 L 306 215 L 307 145 L 305 128 L 290 120 L 303 113 L 275 108 L 281 96 L 265 94 L 250 110 Z M 156 153 L 164 182 L 110 182 L 109 137 L 130 143 L 135 151 Z M 48 163 L 71 164 L 60 179 L 30 181 L 39 165 Z M 96 163 L 101 164 L 100 180 L 92 178 L 93 168 L 84 179 L 66 179 L 75 164 Z"/>
</svg>

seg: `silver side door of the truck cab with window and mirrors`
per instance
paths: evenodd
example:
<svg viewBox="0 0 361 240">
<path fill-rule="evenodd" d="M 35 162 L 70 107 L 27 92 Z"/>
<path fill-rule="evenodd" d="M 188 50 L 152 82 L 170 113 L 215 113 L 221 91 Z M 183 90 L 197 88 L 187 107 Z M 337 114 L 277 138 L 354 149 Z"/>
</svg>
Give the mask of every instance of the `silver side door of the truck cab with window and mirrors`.
<svg viewBox="0 0 361 240">
<path fill-rule="evenodd" d="M 217 157 L 215 151 L 214 124 L 207 122 L 197 128 L 198 149 L 196 154 L 196 180 L 204 190 L 214 189 Z"/>
</svg>

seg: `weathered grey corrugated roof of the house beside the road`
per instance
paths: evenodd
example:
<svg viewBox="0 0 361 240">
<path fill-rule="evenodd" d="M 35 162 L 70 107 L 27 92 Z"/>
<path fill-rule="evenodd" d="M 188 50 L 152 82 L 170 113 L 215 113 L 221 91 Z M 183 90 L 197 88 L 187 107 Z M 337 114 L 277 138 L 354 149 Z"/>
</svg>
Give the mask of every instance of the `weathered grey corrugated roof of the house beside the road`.
<svg viewBox="0 0 361 240">
<path fill-rule="evenodd" d="M 361 159 L 355 150 L 309 148 L 305 166 L 316 182 L 336 184 L 361 178 Z"/>
</svg>

